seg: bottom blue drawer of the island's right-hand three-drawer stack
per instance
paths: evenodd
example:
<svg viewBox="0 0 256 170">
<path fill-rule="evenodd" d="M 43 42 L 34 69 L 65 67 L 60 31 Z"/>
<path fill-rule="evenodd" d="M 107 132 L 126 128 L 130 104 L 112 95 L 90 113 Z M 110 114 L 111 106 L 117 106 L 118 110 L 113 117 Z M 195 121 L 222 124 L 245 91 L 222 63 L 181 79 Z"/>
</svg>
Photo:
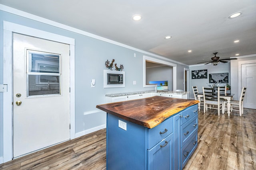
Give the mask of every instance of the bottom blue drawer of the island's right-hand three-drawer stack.
<svg viewBox="0 0 256 170">
<path fill-rule="evenodd" d="M 186 145 L 181 149 L 181 163 L 182 168 L 186 165 L 189 158 L 193 154 L 197 147 L 197 133 L 186 143 Z"/>
</svg>

